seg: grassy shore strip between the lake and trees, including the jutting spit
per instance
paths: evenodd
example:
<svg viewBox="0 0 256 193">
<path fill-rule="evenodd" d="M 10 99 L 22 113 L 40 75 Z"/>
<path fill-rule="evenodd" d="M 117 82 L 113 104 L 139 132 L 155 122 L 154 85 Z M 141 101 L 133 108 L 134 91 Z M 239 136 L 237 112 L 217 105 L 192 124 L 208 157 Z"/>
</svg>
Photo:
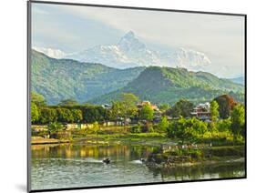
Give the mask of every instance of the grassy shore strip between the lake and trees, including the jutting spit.
<svg viewBox="0 0 256 193">
<path fill-rule="evenodd" d="M 244 143 L 230 137 L 210 135 L 194 140 L 172 138 L 168 132 L 132 132 L 131 127 L 98 127 L 93 132 L 87 129 L 65 131 L 56 138 L 32 137 L 32 145 L 83 144 L 86 146 L 151 146 L 154 150 L 145 157 L 152 168 L 171 168 L 197 164 L 216 164 L 244 157 Z M 67 135 L 68 134 L 68 135 Z M 214 133 L 213 133 L 214 134 Z"/>
</svg>

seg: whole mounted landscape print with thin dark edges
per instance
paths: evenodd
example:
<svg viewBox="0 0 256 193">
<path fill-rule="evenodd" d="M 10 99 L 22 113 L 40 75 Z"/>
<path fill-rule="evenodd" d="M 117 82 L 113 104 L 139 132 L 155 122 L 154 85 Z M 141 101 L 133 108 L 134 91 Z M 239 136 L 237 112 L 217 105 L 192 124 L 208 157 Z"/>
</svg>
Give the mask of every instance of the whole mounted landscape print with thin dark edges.
<svg viewBox="0 0 256 193">
<path fill-rule="evenodd" d="M 247 178 L 246 30 L 241 14 L 28 1 L 27 191 Z"/>
</svg>

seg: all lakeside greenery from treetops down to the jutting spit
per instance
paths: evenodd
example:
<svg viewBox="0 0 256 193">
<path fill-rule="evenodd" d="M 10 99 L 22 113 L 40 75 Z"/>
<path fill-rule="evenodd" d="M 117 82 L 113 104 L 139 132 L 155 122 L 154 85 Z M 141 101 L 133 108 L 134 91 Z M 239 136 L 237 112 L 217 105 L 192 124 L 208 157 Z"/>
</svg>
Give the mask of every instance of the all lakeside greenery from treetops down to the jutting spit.
<svg viewBox="0 0 256 193">
<path fill-rule="evenodd" d="M 231 96 L 218 96 L 210 102 L 209 113 L 202 108 L 200 113 L 209 116 L 206 119 L 193 117 L 194 109 L 195 105 L 186 99 L 180 99 L 172 107 L 169 104 L 157 107 L 148 101 L 141 102 L 132 93 L 123 93 L 111 105 L 81 105 L 67 99 L 57 106 L 47 106 L 43 96 L 33 93 L 32 125 L 45 129 L 32 129 L 32 136 L 58 139 L 53 143 L 154 145 L 157 150 L 147 157 L 147 164 L 164 163 L 161 167 L 171 167 L 180 160 L 198 163 L 244 157 L 242 104 Z M 76 127 L 68 129 L 68 125 Z M 40 144 L 40 141 L 51 143 L 42 138 L 37 141 L 34 138 L 32 143 Z"/>
</svg>

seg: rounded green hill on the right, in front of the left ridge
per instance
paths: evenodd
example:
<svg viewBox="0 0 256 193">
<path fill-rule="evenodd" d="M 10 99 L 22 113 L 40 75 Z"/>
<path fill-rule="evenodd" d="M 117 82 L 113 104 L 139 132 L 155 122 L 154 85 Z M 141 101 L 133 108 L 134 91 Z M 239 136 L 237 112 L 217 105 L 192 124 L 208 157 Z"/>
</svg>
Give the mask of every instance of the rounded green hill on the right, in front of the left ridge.
<svg viewBox="0 0 256 193">
<path fill-rule="evenodd" d="M 205 102 L 223 94 L 230 94 L 243 102 L 243 90 L 243 86 L 210 73 L 190 72 L 185 68 L 149 66 L 127 86 L 88 102 L 110 103 L 121 93 L 127 92 L 157 104 L 173 104 L 180 98 L 187 98 L 195 103 Z"/>
</svg>

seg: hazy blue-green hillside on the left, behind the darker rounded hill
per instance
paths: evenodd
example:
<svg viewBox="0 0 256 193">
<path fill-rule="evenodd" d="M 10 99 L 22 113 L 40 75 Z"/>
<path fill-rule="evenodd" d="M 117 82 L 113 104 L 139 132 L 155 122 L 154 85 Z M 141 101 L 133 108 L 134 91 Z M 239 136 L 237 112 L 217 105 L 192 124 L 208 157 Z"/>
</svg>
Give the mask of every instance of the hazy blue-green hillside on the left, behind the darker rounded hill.
<svg viewBox="0 0 256 193">
<path fill-rule="evenodd" d="M 121 70 L 72 59 L 55 59 L 32 50 L 32 91 L 45 96 L 48 104 L 67 98 L 85 102 L 126 86 L 144 69 Z"/>
</svg>

